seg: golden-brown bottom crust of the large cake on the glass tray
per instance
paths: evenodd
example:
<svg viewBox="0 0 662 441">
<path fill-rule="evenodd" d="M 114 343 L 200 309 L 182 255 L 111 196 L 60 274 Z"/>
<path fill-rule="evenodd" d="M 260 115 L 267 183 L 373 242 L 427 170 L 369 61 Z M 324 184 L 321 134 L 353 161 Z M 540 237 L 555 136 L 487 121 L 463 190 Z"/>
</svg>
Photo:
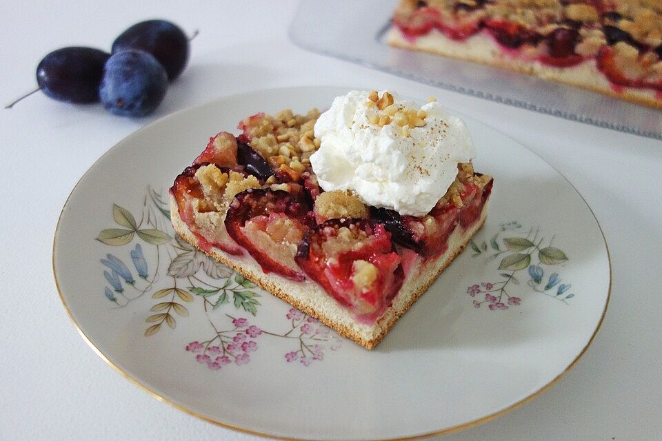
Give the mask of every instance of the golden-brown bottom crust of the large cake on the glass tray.
<svg viewBox="0 0 662 441">
<path fill-rule="evenodd" d="M 549 68 L 545 70 L 545 74 L 537 74 L 534 71 L 534 63 L 530 62 L 525 62 L 525 61 L 518 61 L 518 63 L 513 63 L 512 60 L 508 61 L 501 61 L 496 58 L 492 57 L 483 57 L 478 54 L 472 54 L 470 51 L 464 52 L 465 56 L 459 57 L 457 54 L 452 54 L 450 52 L 445 52 L 443 48 L 439 49 L 431 49 L 431 48 L 419 48 L 417 45 L 414 45 L 412 43 L 408 43 L 407 41 L 404 41 L 403 39 L 399 38 L 394 38 L 394 32 L 398 32 L 396 28 L 392 28 L 389 37 L 388 37 L 388 44 L 396 47 L 396 48 L 401 48 L 401 49 L 407 49 L 407 50 L 416 50 L 418 52 L 425 52 L 428 54 L 434 54 L 434 55 L 442 55 L 443 57 L 449 57 L 452 59 L 457 59 L 461 61 L 471 61 L 472 63 L 480 63 L 484 65 L 490 65 L 494 68 L 500 68 L 500 69 L 506 69 L 510 70 L 512 72 L 517 72 L 520 74 L 528 74 L 531 76 L 536 76 L 537 78 L 544 79 L 544 80 L 549 80 L 549 81 L 554 81 L 555 83 L 561 83 L 561 84 L 568 84 L 572 85 L 576 88 L 581 88 L 585 90 L 591 90 L 592 92 L 598 92 L 600 94 L 604 94 L 607 96 L 611 96 L 612 98 L 616 99 L 622 99 L 623 101 L 629 101 L 630 103 L 634 104 L 639 104 L 639 105 L 645 105 L 647 107 L 654 107 L 656 109 L 662 109 L 662 101 L 659 99 L 656 99 L 652 96 L 643 96 L 643 93 L 639 90 L 628 90 L 628 88 L 625 88 L 623 92 L 616 92 L 615 90 L 612 90 L 608 85 L 602 86 L 602 85 L 595 85 L 595 84 L 590 84 L 590 83 L 583 83 L 581 81 L 573 81 L 567 78 L 564 78 L 563 76 L 560 76 L 556 74 L 554 69 Z"/>
</svg>

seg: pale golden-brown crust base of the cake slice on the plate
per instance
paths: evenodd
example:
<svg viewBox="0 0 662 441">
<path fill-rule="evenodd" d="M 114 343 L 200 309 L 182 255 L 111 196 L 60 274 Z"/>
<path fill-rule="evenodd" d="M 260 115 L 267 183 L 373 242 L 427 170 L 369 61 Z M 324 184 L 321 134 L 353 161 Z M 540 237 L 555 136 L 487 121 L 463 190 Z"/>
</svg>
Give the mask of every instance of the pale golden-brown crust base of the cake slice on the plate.
<svg viewBox="0 0 662 441">
<path fill-rule="evenodd" d="M 488 201 L 489 202 L 489 201 Z M 373 338 L 364 338 L 363 336 L 359 335 L 357 332 L 353 331 L 349 327 L 343 325 L 343 323 L 339 323 L 336 320 L 333 320 L 332 318 L 325 316 L 324 314 L 320 314 L 320 311 L 317 311 L 316 309 L 310 307 L 309 305 L 306 305 L 305 303 L 299 301 L 297 298 L 294 298 L 287 292 L 283 291 L 278 285 L 270 282 L 269 280 L 266 280 L 267 275 L 265 274 L 257 274 L 254 271 L 248 271 L 245 269 L 245 267 L 242 267 L 241 265 L 238 265 L 236 262 L 233 260 L 230 260 L 223 256 L 223 254 L 220 254 L 219 252 L 215 251 L 215 249 L 212 249 L 211 252 L 205 252 L 205 250 L 201 249 L 198 244 L 197 244 L 197 238 L 192 234 L 190 229 L 188 228 L 188 225 L 186 225 L 183 220 L 179 217 L 179 211 L 177 209 L 177 202 L 174 201 L 174 198 L 170 196 L 170 216 L 172 218 L 172 226 L 174 227 L 175 232 L 179 234 L 181 238 L 186 240 L 188 243 L 199 249 L 199 251 L 208 254 L 215 260 L 218 260 L 220 263 L 223 263 L 223 265 L 227 265 L 228 267 L 234 269 L 234 271 L 237 271 L 237 273 L 241 274 L 243 277 L 247 278 L 251 282 L 257 284 L 259 287 L 264 289 L 265 291 L 270 292 L 274 296 L 280 298 L 284 302 L 287 302 L 288 304 L 292 305 L 293 307 L 303 311 L 304 314 L 308 314 L 309 316 L 312 316 L 314 318 L 317 318 L 320 322 L 322 322 L 324 325 L 330 327 L 334 331 L 336 331 L 338 334 L 345 338 L 349 338 L 350 340 L 353 340 L 354 342 L 357 342 L 357 344 L 361 345 L 362 347 L 365 347 L 365 349 L 373 349 L 377 344 L 381 341 L 382 338 L 386 334 L 388 334 L 388 331 L 395 325 L 395 322 L 403 315 L 405 314 L 408 309 L 416 302 L 416 300 L 425 293 L 425 291 L 428 290 L 430 285 L 434 283 L 435 280 L 439 277 L 441 272 L 452 263 L 452 261 L 463 251 L 463 249 L 466 247 L 466 245 L 469 243 L 469 240 L 476 234 L 481 227 L 483 227 L 483 224 L 485 223 L 485 213 L 487 211 L 488 203 L 485 203 L 483 207 L 483 213 L 481 215 L 481 218 L 479 219 L 479 222 L 477 225 L 474 225 L 472 227 L 472 233 L 468 234 L 465 240 L 463 241 L 463 244 L 456 250 L 456 252 L 449 258 L 444 265 L 441 265 L 439 270 L 434 274 L 434 276 L 430 277 L 428 276 L 427 279 L 425 279 L 425 282 L 421 284 L 417 289 L 414 290 L 414 292 L 410 295 L 410 299 L 408 300 L 405 305 L 400 307 L 399 309 L 395 310 L 393 306 L 389 307 L 384 313 L 384 318 L 386 318 L 388 321 L 383 324 L 383 327 L 379 334 L 374 336 Z M 392 314 L 389 314 L 390 310 L 392 311 Z"/>
</svg>

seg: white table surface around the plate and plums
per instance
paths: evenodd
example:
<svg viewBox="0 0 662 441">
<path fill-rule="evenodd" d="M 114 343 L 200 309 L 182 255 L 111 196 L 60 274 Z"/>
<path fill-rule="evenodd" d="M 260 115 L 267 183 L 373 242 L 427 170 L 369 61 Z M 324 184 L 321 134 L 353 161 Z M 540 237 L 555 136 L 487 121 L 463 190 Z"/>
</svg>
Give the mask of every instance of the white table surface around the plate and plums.
<svg viewBox="0 0 662 441">
<path fill-rule="evenodd" d="M 612 295 L 601 331 L 585 355 L 529 404 L 445 440 L 662 439 L 660 141 L 437 90 L 305 52 L 287 37 L 297 1 L 25 3 L 5 1 L 1 8 L 3 103 L 33 87 L 34 69 L 50 50 L 66 45 L 108 50 L 128 25 L 152 17 L 201 32 L 192 42 L 187 70 L 146 119 L 121 119 L 100 105 L 67 105 L 43 94 L 0 110 L 0 440 L 258 439 L 154 400 L 90 350 L 57 295 L 52 238 L 75 183 L 123 137 L 218 96 L 292 85 L 437 96 L 510 134 L 568 176 L 605 232 Z"/>
</svg>

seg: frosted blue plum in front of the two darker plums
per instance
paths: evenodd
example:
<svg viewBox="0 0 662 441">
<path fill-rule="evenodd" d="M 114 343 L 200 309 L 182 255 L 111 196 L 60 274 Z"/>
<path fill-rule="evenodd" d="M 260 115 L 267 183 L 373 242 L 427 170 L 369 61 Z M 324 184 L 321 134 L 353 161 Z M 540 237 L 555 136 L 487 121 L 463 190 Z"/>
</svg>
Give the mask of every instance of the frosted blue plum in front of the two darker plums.
<svg viewBox="0 0 662 441">
<path fill-rule="evenodd" d="M 113 114 L 145 116 L 161 104 L 167 88 L 168 75 L 157 59 L 141 50 L 128 50 L 106 62 L 99 96 Z"/>
</svg>

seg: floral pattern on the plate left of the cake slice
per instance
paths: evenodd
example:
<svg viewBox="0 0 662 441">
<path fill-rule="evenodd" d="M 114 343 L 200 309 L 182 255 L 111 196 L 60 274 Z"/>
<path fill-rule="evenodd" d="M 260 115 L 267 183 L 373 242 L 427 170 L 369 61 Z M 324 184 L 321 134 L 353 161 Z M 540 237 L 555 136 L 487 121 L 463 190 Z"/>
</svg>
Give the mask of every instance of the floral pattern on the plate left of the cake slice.
<svg viewBox="0 0 662 441">
<path fill-rule="evenodd" d="M 341 339 L 337 334 L 298 309 L 291 308 L 285 314 L 280 332 L 263 329 L 253 318 L 234 316 L 236 312 L 218 314 L 219 309 L 227 311 L 234 307 L 235 311 L 256 317 L 261 307 L 260 291 L 241 274 L 174 234 L 168 205 L 151 187 L 143 198 L 140 220 L 117 204 L 112 205 L 112 218 L 121 228 L 103 229 L 97 240 L 112 247 L 128 245 L 128 253 L 124 248 L 123 254 L 133 264 L 137 277 L 118 257 L 122 256 L 120 252 L 106 254 L 100 260 L 103 277 L 110 285 L 104 288 L 104 294 L 114 303 L 114 309 L 121 309 L 153 291 L 154 303 L 150 308 L 153 314 L 145 320 L 148 324 L 145 336 L 152 336 L 166 326 L 175 329 L 177 320 L 190 315 L 185 306 L 188 303 L 189 307 L 201 304 L 210 334 L 202 341 L 189 342 L 184 350 L 212 370 L 250 362 L 251 354 L 263 344 L 259 342 L 263 336 L 288 342 L 283 360 L 298 361 L 304 366 L 323 360 L 326 349 L 339 349 Z M 136 236 L 139 241 L 133 244 Z M 145 254 L 148 250 L 149 258 Z M 165 274 L 161 274 L 163 271 Z"/>
</svg>

